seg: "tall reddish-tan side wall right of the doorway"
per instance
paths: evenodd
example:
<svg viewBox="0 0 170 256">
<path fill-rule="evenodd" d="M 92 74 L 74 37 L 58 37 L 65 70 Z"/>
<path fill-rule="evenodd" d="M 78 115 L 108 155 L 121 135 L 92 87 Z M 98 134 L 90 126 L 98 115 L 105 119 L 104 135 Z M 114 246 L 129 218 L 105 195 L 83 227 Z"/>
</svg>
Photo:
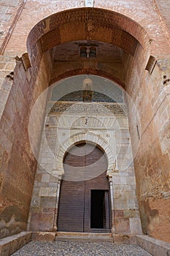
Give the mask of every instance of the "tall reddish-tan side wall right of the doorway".
<svg viewBox="0 0 170 256">
<path fill-rule="evenodd" d="M 158 61 L 150 74 L 144 70 L 143 56 L 147 54 L 141 49 L 126 77 L 128 94 L 139 113 L 138 119 L 129 105 L 139 208 L 144 233 L 169 242 L 169 59 Z"/>
</svg>

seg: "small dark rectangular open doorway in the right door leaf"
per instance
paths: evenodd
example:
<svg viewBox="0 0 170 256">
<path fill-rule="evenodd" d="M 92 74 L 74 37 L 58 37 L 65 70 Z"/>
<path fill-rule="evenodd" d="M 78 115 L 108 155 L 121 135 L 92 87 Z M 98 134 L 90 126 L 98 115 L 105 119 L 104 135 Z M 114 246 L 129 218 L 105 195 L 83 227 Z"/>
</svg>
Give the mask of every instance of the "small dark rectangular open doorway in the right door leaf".
<svg viewBox="0 0 170 256">
<path fill-rule="evenodd" d="M 109 190 L 91 190 L 90 228 L 104 230 L 110 228 Z"/>
</svg>

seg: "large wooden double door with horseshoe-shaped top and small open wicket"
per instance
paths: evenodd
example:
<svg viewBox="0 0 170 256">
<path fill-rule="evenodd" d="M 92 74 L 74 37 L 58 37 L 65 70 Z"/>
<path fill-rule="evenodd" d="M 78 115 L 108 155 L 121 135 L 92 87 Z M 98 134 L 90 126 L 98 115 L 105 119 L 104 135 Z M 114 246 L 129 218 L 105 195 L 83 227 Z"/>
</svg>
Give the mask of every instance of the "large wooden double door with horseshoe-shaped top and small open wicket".
<svg viewBox="0 0 170 256">
<path fill-rule="evenodd" d="M 107 159 L 100 148 L 80 143 L 64 158 L 58 231 L 108 232 L 110 223 Z"/>
</svg>

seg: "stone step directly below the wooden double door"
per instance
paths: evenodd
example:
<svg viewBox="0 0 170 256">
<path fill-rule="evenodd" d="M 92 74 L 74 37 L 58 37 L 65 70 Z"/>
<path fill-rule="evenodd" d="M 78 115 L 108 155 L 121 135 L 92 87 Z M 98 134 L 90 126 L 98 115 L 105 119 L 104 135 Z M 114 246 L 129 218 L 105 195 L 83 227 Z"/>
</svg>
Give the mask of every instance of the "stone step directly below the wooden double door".
<svg viewBox="0 0 170 256">
<path fill-rule="evenodd" d="M 55 241 L 113 242 L 112 233 L 57 232 Z"/>
</svg>

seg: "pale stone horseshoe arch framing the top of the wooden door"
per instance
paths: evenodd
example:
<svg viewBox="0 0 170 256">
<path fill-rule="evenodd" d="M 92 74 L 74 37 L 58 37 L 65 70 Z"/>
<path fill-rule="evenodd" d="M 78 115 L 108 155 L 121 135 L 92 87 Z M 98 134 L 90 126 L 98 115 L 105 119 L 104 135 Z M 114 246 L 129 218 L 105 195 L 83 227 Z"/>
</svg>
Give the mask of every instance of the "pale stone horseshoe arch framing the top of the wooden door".
<svg viewBox="0 0 170 256">
<path fill-rule="evenodd" d="M 79 143 L 81 141 L 95 143 L 96 146 L 99 146 L 104 151 L 107 157 L 107 175 L 109 176 L 109 172 L 115 170 L 115 157 L 112 152 L 112 149 L 109 146 L 107 140 L 104 140 L 104 138 L 101 138 L 99 135 L 96 135 L 91 132 L 77 133 L 76 135 L 71 136 L 68 140 L 63 142 L 56 157 L 58 172 L 61 173 L 62 175 L 64 174 L 63 158 L 65 157 L 66 152 L 68 152 L 69 149 L 72 148 L 72 146 L 74 146 L 76 143 Z"/>
</svg>

